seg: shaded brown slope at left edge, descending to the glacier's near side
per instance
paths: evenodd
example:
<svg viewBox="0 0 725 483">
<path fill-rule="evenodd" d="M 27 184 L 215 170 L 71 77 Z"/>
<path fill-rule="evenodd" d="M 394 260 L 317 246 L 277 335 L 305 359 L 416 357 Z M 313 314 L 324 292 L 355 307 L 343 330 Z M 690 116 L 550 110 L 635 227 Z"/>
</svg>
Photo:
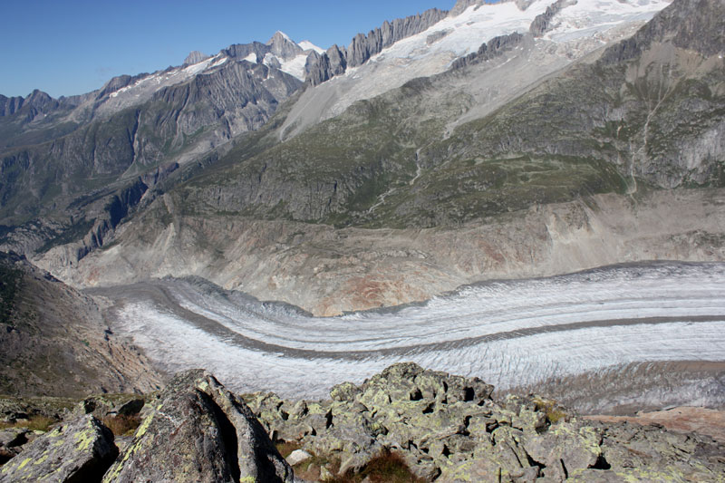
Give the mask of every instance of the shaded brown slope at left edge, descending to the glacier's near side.
<svg viewBox="0 0 725 483">
<path fill-rule="evenodd" d="M 24 259 L 0 253 L 0 393 L 83 396 L 152 391 L 139 350 L 108 329 L 102 306 Z"/>
</svg>

